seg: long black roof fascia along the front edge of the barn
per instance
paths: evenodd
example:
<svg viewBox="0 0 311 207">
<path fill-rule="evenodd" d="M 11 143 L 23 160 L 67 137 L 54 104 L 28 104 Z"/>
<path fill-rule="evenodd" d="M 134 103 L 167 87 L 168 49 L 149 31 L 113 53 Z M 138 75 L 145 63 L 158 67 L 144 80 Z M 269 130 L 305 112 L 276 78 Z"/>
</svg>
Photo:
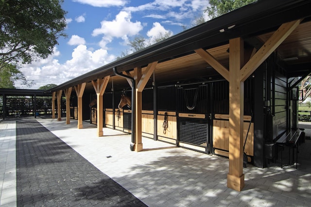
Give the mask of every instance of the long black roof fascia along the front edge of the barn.
<svg viewBox="0 0 311 207">
<path fill-rule="evenodd" d="M 197 48 L 211 48 L 224 44 L 232 38 L 248 38 L 255 34 L 273 31 L 282 23 L 311 16 L 310 8 L 311 0 L 258 0 L 62 83 L 51 91 L 114 75 L 113 67 L 121 72 Z M 235 27 L 229 30 L 228 27 L 232 25 Z M 225 29 L 225 32 L 220 32 L 221 29 Z"/>
</svg>

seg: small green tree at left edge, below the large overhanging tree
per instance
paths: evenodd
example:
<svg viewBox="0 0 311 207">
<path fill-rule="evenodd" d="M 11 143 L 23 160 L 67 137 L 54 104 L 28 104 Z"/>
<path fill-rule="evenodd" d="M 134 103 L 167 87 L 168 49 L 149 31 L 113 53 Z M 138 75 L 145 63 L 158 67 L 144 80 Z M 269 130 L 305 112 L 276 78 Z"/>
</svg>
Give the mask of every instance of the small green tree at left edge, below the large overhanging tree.
<svg viewBox="0 0 311 207">
<path fill-rule="evenodd" d="M 0 70 L 0 88 L 15 88 L 14 83 L 16 80 L 20 80 L 23 85 L 28 87 L 35 84 L 33 80 L 27 80 L 16 65 L 6 64 Z"/>
</svg>

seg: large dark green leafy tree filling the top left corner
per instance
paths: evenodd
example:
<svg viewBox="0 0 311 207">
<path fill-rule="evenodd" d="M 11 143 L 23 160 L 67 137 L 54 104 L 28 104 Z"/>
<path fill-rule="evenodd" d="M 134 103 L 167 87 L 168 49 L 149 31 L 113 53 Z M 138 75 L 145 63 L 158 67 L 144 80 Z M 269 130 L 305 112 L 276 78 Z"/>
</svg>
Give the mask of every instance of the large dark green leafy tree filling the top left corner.
<svg viewBox="0 0 311 207">
<path fill-rule="evenodd" d="M 47 58 L 66 36 L 63 0 L 0 0 L 0 69 Z"/>
</svg>

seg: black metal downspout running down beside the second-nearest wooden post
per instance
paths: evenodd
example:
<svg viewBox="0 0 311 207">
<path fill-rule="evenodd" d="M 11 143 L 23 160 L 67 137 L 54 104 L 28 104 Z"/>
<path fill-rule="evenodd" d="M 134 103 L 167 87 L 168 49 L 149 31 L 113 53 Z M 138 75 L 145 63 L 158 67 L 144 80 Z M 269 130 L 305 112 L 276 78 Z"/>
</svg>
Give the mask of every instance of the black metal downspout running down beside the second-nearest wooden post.
<svg viewBox="0 0 311 207">
<path fill-rule="evenodd" d="M 131 142 L 131 145 L 130 145 L 130 149 L 131 151 L 134 151 L 134 146 L 135 146 L 135 79 L 133 77 L 130 77 L 130 76 L 126 76 L 122 73 L 119 73 L 117 71 L 117 68 L 113 67 L 113 73 L 116 75 L 116 76 L 121 76 L 121 77 L 124 77 L 124 78 L 127 78 L 127 79 L 130 79 L 132 81 L 132 118 L 131 118 L 131 130 L 132 130 L 132 142 Z"/>
</svg>

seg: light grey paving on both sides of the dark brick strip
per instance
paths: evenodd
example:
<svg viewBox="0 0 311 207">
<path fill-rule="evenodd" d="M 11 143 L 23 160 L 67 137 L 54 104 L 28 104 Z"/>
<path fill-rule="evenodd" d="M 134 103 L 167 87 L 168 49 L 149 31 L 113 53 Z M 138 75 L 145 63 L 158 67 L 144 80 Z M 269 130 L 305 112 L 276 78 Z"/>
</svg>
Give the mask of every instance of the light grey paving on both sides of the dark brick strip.
<svg viewBox="0 0 311 207">
<path fill-rule="evenodd" d="M 307 207 L 311 204 L 310 140 L 299 146 L 304 158 L 300 158 L 302 153 L 299 153 L 298 170 L 293 166 L 260 169 L 248 165 L 243 169 L 245 188 L 238 192 L 226 187 L 226 158 L 148 138 L 143 138 L 144 151 L 136 153 L 129 149 L 131 136 L 121 131 L 104 128 L 104 136 L 96 137 L 97 129 L 88 123 L 84 123 L 85 128 L 77 129 L 75 120 L 70 125 L 55 119 L 37 121 L 150 207 Z M 14 131 L 14 127 L 14 122 L 0 123 L 1 166 L 4 166 L 2 157 L 5 156 L 2 145 L 8 142 L 2 134 Z M 5 174 L 0 172 L 2 180 Z M 5 179 L 1 185 L 0 205 L 14 206 L 13 192 L 6 193 L 4 183 Z"/>
</svg>

